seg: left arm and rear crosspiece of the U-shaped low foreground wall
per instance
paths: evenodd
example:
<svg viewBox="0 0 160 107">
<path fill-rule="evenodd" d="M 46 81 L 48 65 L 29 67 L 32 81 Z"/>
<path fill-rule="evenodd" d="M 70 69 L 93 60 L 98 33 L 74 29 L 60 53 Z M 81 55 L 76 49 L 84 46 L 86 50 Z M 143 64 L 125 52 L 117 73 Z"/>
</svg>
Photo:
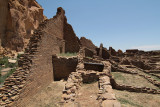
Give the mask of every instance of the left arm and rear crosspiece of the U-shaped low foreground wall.
<svg viewBox="0 0 160 107">
<path fill-rule="evenodd" d="M 75 100 L 79 88 L 83 83 L 91 83 L 99 80 L 99 76 L 104 73 L 96 71 L 77 70 L 69 75 L 65 89 L 63 90 L 62 98 L 64 103 L 69 103 Z M 91 77 L 91 78 L 90 78 Z"/>
</svg>

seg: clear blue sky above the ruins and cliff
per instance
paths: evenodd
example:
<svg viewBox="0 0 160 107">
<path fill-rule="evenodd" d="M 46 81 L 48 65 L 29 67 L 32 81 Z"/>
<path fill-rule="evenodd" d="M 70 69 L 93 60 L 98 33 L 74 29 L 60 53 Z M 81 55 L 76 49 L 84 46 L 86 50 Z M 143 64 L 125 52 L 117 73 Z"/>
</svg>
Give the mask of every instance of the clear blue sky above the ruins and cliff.
<svg viewBox="0 0 160 107">
<path fill-rule="evenodd" d="M 160 0 L 37 0 L 52 18 L 62 7 L 78 37 L 99 46 L 160 50 Z"/>
</svg>

